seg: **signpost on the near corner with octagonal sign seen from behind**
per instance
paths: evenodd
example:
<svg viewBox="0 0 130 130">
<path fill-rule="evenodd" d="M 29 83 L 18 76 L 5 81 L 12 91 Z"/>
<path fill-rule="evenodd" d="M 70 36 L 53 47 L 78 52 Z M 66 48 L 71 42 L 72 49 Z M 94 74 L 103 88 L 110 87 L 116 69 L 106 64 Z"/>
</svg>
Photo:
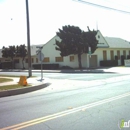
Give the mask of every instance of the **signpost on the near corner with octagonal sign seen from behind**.
<svg viewBox="0 0 130 130">
<path fill-rule="evenodd" d="M 41 61 L 41 81 L 42 81 L 42 79 L 43 79 L 42 63 L 44 60 L 44 54 L 41 52 L 41 50 L 43 47 L 37 46 L 37 48 L 39 48 L 39 50 L 37 52 L 37 58 Z"/>
</svg>

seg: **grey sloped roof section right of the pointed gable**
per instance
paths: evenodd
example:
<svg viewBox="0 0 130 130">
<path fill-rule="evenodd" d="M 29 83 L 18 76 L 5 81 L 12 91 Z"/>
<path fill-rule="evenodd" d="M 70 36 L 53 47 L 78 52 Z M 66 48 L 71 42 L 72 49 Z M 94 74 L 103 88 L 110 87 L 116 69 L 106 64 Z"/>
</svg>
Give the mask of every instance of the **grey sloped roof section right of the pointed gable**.
<svg viewBox="0 0 130 130">
<path fill-rule="evenodd" d="M 109 48 L 130 48 L 130 42 L 115 37 L 105 37 Z"/>
</svg>

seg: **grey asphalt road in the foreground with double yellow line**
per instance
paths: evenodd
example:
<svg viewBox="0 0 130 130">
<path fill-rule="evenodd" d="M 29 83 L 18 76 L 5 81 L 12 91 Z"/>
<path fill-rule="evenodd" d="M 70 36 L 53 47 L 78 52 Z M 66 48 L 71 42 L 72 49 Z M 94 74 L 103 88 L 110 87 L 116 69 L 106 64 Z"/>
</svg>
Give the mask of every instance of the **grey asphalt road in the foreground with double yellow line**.
<svg viewBox="0 0 130 130">
<path fill-rule="evenodd" d="M 129 84 L 0 98 L 0 130 L 119 130 L 122 119 L 130 120 Z"/>
</svg>

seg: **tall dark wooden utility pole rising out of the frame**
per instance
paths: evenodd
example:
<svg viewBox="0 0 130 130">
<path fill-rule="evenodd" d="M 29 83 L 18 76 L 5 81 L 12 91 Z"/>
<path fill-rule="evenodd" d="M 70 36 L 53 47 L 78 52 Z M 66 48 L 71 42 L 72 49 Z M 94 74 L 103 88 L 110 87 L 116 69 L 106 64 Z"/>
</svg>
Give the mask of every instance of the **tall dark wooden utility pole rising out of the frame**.
<svg viewBox="0 0 130 130">
<path fill-rule="evenodd" d="M 28 72 L 29 77 L 32 76 L 31 70 L 31 51 L 30 51 L 30 27 L 29 27 L 29 9 L 28 9 L 28 0 L 26 0 L 26 20 L 27 20 L 27 45 L 28 45 Z"/>
</svg>

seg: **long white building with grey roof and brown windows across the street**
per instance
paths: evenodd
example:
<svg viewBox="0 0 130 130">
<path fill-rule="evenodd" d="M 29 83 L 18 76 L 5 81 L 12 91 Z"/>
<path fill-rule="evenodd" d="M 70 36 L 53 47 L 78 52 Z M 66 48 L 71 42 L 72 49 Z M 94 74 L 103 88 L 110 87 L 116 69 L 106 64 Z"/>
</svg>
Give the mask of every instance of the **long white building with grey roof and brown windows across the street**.
<svg viewBox="0 0 130 130">
<path fill-rule="evenodd" d="M 99 40 L 99 44 L 97 45 L 96 51 L 89 56 L 89 54 L 82 54 L 81 61 L 83 68 L 97 68 L 101 66 L 113 66 L 111 61 L 116 61 L 116 65 L 123 65 L 124 59 L 130 58 L 130 42 L 123 40 L 121 38 L 114 37 L 103 37 L 100 31 L 97 31 L 96 35 L 97 40 Z M 55 50 L 55 40 L 60 40 L 58 36 L 54 36 L 50 39 L 46 44 L 40 45 L 43 46 L 42 53 L 44 54 L 43 60 L 43 68 L 44 66 L 50 66 L 50 64 L 58 65 L 59 68 L 63 66 L 68 66 L 71 68 L 78 68 L 78 56 L 77 55 L 69 55 L 66 57 L 60 56 L 60 51 Z M 31 46 L 31 61 L 32 68 L 40 65 L 40 61 L 37 58 L 36 51 L 38 48 L 36 46 Z M 22 59 L 15 59 L 15 68 L 22 68 Z M 2 53 L 0 51 L 0 62 L 9 62 L 10 59 L 2 58 Z M 104 64 L 105 61 L 105 65 Z M 107 62 L 106 62 L 107 61 Z M 28 68 L 28 57 L 25 58 L 25 68 Z M 48 68 L 49 69 L 49 68 Z M 50 67 L 50 69 L 53 69 Z"/>
</svg>

